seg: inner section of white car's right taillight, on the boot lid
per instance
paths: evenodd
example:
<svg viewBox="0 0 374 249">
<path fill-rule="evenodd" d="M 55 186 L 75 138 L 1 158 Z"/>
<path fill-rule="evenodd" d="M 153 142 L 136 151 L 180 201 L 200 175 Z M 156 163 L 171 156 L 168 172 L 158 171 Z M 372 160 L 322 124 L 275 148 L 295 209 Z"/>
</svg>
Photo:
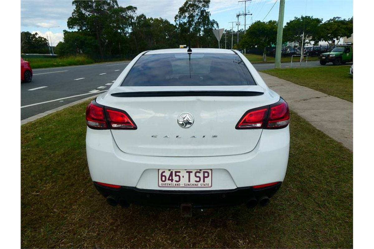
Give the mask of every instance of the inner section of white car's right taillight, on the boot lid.
<svg viewBox="0 0 374 249">
<path fill-rule="evenodd" d="M 268 108 L 252 109 L 246 112 L 236 124 L 236 129 L 263 128 Z"/>
</svg>

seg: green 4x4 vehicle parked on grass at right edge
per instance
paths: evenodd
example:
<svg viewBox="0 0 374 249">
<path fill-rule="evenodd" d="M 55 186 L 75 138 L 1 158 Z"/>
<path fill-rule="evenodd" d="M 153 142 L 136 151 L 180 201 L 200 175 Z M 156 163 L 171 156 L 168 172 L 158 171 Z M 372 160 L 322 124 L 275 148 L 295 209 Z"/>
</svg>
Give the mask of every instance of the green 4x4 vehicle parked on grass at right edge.
<svg viewBox="0 0 374 249">
<path fill-rule="evenodd" d="M 323 53 L 319 56 L 319 63 L 326 65 L 327 62 L 332 62 L 334 65 L 344 64 L 353 61 L 353 46 L 341 45 L 331 50 L 331 52 Z"/>
</svg>

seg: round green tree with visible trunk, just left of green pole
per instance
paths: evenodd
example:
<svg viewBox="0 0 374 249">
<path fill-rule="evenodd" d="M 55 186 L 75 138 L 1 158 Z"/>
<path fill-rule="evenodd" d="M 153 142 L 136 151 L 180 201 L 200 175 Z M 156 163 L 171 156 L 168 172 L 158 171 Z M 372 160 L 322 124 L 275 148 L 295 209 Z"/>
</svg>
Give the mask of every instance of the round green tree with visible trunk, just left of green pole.
<svg viewBox="0 0 374 249">
<path fill-rule="evenodd" d="M 254 22 L 247 29 L 240 45 L 242 47 L 258 47 L 263 49 L 263 59 L 266 61 L 266 48 L 277 41 L 277 21 Z"/>
</svg>

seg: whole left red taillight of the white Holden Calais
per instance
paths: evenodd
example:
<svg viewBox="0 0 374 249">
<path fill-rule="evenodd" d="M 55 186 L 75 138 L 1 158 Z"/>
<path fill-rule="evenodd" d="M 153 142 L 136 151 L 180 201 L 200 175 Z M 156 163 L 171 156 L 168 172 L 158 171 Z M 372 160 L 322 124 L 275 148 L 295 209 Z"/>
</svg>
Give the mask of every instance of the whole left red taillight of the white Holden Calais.
<svg viewBox="0 0 374 249">
<path fill-rule="evenodd" d="M 87 106 L 86 122 L 93 129 L 137 129 L 135 122 L 125 111 L 99 105 L 95 100 Z"/>
</svg>

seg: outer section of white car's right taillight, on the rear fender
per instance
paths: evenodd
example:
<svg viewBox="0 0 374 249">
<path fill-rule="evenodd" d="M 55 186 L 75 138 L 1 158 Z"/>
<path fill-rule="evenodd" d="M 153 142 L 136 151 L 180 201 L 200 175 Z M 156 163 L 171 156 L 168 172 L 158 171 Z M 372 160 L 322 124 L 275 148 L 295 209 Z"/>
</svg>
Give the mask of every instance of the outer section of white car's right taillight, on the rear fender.
<svg viewBox="0 0 374 249">
<path fill-rule="evenodd" d="M 270 105 L 268 129 L 279 129 L 289 124 L 289 110 L 287 103 L 281 99 L 277 103 Z"/>
</svg>

